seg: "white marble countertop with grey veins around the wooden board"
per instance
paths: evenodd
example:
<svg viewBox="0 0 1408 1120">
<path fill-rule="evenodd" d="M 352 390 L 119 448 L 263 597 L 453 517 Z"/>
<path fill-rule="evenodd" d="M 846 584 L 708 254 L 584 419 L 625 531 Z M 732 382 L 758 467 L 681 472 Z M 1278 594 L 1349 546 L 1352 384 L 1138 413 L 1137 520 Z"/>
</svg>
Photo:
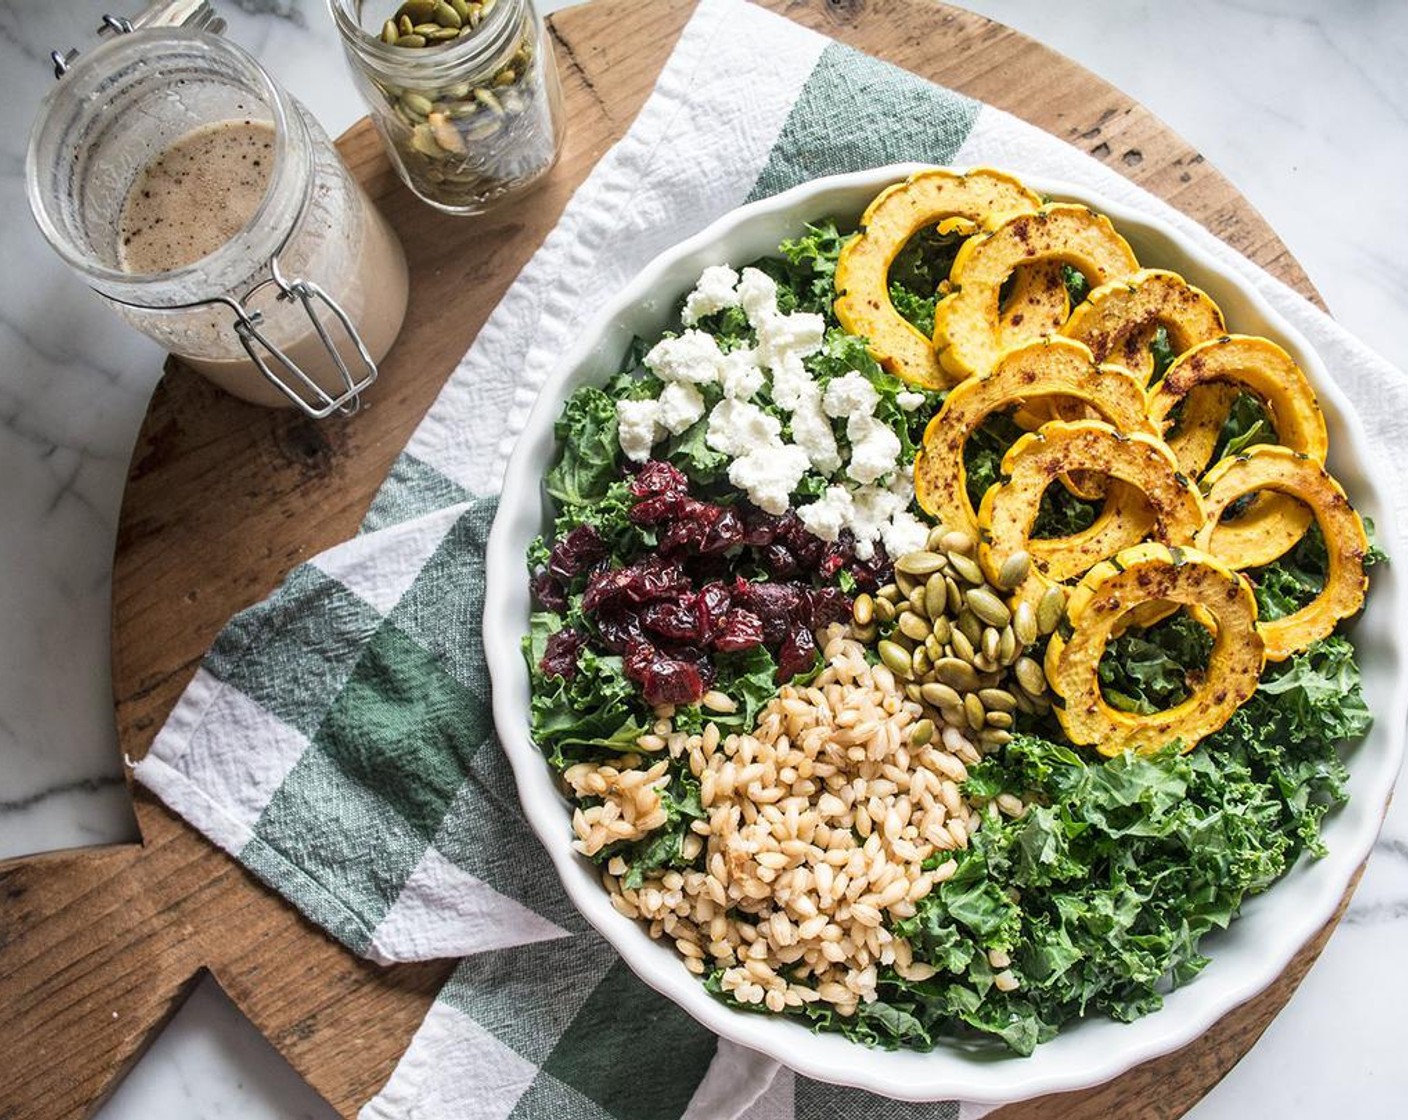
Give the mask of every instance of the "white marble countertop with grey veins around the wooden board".
<svg viewBox="0 0 1408 1120">
<path fill-rule="evenodd" d="M 328 131 L 360 116 L 321 0 L 215 4 L 228 34 Z M 967 6 L 1083 62 L 1187 137 L 1266 214 L 1340 321 L 1408 368 L 1408 4 Z M 135 835 L 111 726 L 108 573 L 127 459 L 161 355 L 52 258 L 23 185 L 24 138 L 51 83 L 48 51 L 86 41 L 113 8 L 122 11 L 121 0 L 0 0 L 0 858 Z M 1321 962 L 1193 1116 L 1402 1114 L 1405 934 L 1401 797 Z M 101 1116 L 331 1110 L 206 979 Z"/>
</svg>

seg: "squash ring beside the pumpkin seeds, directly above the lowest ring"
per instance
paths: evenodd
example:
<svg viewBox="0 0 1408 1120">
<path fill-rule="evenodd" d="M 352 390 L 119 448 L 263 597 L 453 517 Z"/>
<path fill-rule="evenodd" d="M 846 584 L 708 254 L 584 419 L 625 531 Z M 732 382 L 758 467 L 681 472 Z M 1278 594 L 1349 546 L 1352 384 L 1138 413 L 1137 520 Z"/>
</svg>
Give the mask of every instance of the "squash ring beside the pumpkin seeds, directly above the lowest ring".
<svg viewBox="0 0 1408 1120">
<path fill-rule="evenodd" d="M 1170 545 L 1191 544 L 1205 520 L 1197 487 L 1178 472 L 1173 452 L 1160 440 L 1143 433 L 1124 435 L 1098 420 L 1055 420 L 1012 444 L 1002 458 L 1007 478 L 983 496 L 977 516 L 981 533 L 979 561 L 990 579 L 995 582 L 1010 556 L 1031 551 L 1031 533 L 1042 494 L 1067 471 L 1101 471 L 1126 483 L 1114 487 L 1101 520 L 1119 520 L 1129 533 L 1139 535 L 1129 541 L 1087 530 L 1081 537 L 1107 549 L 1100 554 L 1087 551 L 1090 541 L 1081 538 L 1064 538 L 1064 548 L 1062 542 L 1048 542 L 1045 561 L 1033 555 L 1031 575 L 1014 590 L 1019 599 L 1038 599 L 1053 579 L 1069 579 L 1090 571 L 1107 556 L 1138 544 L 1145 533 Z M 1143 494 L 1145 507 L 1139 513 L 1148 511 L 1150 518 L 1121 514 L 1119 506 L 1128 502 L 1129 487 L 1138 487 Z M 1098 525 L 1100 520 L 1091 528 Z M 1046 571 L 1042 571 L 1043 562 Z"/>
</svg>

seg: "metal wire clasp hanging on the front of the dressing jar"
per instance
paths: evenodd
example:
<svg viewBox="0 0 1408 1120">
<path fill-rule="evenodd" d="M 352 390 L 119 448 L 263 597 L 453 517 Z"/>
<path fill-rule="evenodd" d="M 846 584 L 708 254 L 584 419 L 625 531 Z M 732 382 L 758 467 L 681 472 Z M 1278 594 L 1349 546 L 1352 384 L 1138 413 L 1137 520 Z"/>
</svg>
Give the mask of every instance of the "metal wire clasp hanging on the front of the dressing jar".
<svg viewBox="0 0 1408 1120">
<path fill-rule="evenodd" d="M 313 378 L 310 378 L 298 366 L 298 363 L 293 361 L 293 358 L 270 342 L 259 331 L 259 325 L 263 323 L 263 314 L 260 311 L 246 310 L 245 304 L 239 300 L 221 297 L 220 303 L 227 304 L 235 313 L 235 334 L 239 335 L 239 342 L 245 348 L 245 354 L 249 355 L 249 361 L 259 368 L 259 372 L 263 373 L 272 385 L 275 385 L 286 397 L 289 397 L 289 400 L 297 404 L 314 420 L 322 420 L 322 417 L 331 416 L 332 413 L 352 416 L 360 404 L 362 390 L 376 380 L 376 362 L 372 359 L 366 344 L 362 341 L 362 335 L 358 334 L 356 325 L 352 323 L 352 317 L 342 310 L 332 296 L 315 283 L 311 283 L 310 280 L 284 279 L 279 269 L 277 256 L 269 262 L 269 273 L 268 280 L 262 280 L 245 293 L 245 303 L 248 303 L 256 292 L 268 287 L 269 285 L 279 289 L 276 299 L 283 301 L 297 300 L 301 303 L 304 314 L 307 314 L 308 320 L 313 323 L 313 330 L 318 332 L 318 340 L 322 342 L 324 349 L 332 355 L 332 361 L 337 363 L 338 376 L 342 379 L 342 392 L 337 396 L 329 393 L 313 380 Z M 353 376 L 352 369 L 348 368 L 346 361 L 342 358 L 342 351 L 328 334 L 327 325 L 318 316 L 320 303 L 337 316 L 338 323 L 342 324 L 342 330 L 346 331 L 348 340 L 356 348 L 358 358 L 362 363 L 360 376 Z M 273 358 L 279 368 L 289 375 L 296 385 L 290 385 L 290 380 L 275 372 L 275 369 L 270 368 L 268 358 Z"/>
</svg>

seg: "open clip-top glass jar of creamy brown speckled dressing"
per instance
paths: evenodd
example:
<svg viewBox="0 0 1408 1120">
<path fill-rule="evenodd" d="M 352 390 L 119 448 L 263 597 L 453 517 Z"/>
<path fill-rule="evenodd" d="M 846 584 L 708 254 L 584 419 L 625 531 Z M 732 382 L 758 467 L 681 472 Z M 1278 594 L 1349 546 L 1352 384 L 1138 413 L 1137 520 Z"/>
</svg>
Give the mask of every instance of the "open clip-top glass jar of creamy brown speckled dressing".
<svg viewBox="0 0 1408 1120">
<path fill-rule="evenodd" d="M 353 411 L 406 314 L 406 256 L 386 220 L 238 46 L 108 27 L 122 34 L 55 55 L 59 82 L 30 137 L 45 238 L 122 318 L 234 396 Z"/>
</svg>

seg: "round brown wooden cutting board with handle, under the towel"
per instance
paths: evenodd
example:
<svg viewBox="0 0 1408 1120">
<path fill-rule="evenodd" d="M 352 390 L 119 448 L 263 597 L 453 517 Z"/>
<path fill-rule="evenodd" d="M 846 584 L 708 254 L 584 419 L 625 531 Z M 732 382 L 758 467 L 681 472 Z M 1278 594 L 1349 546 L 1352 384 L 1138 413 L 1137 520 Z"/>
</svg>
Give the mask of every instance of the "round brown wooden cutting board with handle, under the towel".
<svg viewBox="0 0 1408 1120">
<path fill-rule="evenodd" d="M 1000 106 L 1202 221 L 1314 299 L 1266 223 L 1128 97 L 1017 32 L 926 0 L 763 0 L 801 24 Z M 548 23 L 570 131 L 551 182 L 477 220 L 418 204 L 366 121 L 338 145 L 411 262 L 411 310 L 352 420 L 242 404 L 172 368 L 128 473 L 113 575 L 121 748 L 141 757 L 220 627 L 351 537 L 393 458 L 598 156 L 631 124 L 691 0 L 597 0 Z M 386 1082 L 452 962 L 379 968 L 298 917 L 132 789 L 141 844 L 0 865 L 0 1117 L 89 1114 L 204 971 L 344 1116 Z M 1346 895 L 1347 900 L 1347 895 Z M 1173 1117 L 1247 1051 L 1333 923 L 1286 975 L 1188 1048 L 1002 1120 Z"/>
</svg>

